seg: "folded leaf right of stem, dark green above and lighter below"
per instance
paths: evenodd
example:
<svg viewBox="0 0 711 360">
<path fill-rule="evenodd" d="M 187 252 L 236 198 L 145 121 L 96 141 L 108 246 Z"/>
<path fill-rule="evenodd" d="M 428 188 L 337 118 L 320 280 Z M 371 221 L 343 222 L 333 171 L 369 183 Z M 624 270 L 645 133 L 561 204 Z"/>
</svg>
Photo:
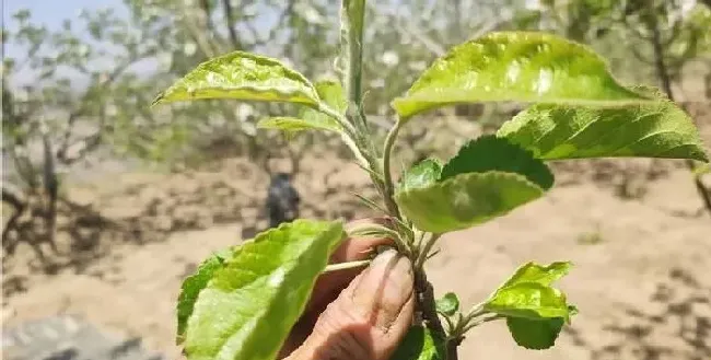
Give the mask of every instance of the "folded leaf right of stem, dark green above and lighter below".
<svg viewBox="0 0 711 360">
<path fill-rule="evenodd" d="M 462 147 L 441 171 L 423 162 L 404 176 L 395 194 L 403 213 L 420 230 L 463 230 L 539 198 L 553 175 L 529 151 L 494 136 Z M 417 185 L 417 186 L 415 186 Z"/>
</svg>

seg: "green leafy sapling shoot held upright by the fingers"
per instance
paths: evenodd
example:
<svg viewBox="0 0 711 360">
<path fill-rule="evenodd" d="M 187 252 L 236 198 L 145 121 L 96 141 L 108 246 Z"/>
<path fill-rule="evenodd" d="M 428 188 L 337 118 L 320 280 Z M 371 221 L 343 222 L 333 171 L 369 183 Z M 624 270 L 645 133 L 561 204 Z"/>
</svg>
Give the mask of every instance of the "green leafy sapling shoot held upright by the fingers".
<svg viewBox="0 0 711 360">
<path fill-rule="evenodd" d="M 544 196 L 555 182 L 549 161 L 648 156 L 708 162 L 696 127 L 658 91 L 622 85 L 584 45 L 546 33 L 492 32 L 455 46 L 424 70 L 392 102 L 395 125 L 383 144 L 374 143 L 361 84 L 364 8 L 365 0 L 342 1 L 337 80 L 312 83 L 279 60 L 234 51 L 199 65 L 154 104 L 288 102 L 303 111 L 259 126 L 329 131 L 343 140 L 383 205 L 366 202 L 383 209 L 393 223 L 360 227 L 350 235 L 393 239 L 413 264 L 418 322 L 394 359 L 456 359 L 465 334 L 493 321 L 505 322 L 520 346 L 551 347 L 576 313 L 553 287 L 570 263 L 525 264 L 467 310 L 453 293 L 435 301 L 424 271 L 434 245 L 447 232 Z M 416 120 L 427 111 L 477 102 L 529 107 L 448 161 L 428 158 L 394 181 L 392 152 L 403 127 L 427 126 L 426 119 Z M 346 236 L 340 221 L 295 220 L 207 259 L 185 280 L 178 299 L 177 341 L 188 359 L 273 360 Z"/>
</svg>

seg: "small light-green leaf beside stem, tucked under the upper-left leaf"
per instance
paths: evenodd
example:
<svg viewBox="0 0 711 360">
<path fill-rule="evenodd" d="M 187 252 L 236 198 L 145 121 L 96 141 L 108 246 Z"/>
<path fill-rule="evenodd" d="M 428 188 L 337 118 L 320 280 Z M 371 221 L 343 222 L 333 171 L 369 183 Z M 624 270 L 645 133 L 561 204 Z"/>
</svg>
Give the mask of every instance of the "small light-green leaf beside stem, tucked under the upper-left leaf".
<svg viewBox="0 0 711 360">
<path fill-rule="evenodd" d="M 343 88 L 333 80 L 316 83 L 316 91 L 322 101 L 335 112 L 346 113 L 348 102 L 343 95 Z M 283 131 L 303 131 L 311 129 L 341 132 L 343 128 L 333 117 L 313 108 L 304 108 L 299 117 L 271 117 L 259 120 L 257 127 L 261 129 L 277 129 Z"/>
</svg>

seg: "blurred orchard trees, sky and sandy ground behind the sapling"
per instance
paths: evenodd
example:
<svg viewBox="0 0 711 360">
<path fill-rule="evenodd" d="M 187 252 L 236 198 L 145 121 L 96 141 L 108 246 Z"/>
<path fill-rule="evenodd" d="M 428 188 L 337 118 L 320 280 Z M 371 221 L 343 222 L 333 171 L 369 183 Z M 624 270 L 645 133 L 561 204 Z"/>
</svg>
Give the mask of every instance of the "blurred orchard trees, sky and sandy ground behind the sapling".
<svg viewBox="0 0 711 360">
<path fill-rule="evenodd" d="M 331 74 L 338 8 L 336 0 L 3 1 L 3 357 L 62 350 L 47 340 L 55 325 L 40 321 L 66 314 L 114 339 L 90 358 L 109 348 L 178 358 L 182 280 L 211 252 L 267 228 L 267 187 L 279 172 L 292 175 L 301 217 L 372 214 L 352 194 L 376 193 L 339 139 L 256 129 L 265 116 L 295 114 L 293 106 L 149 108 L 195 66 L 235 49 L 277 57 L 311 79 Z M 451 46 L 528 30 L 587 44 L 621 81 L 658 86 L 695 118 L 711 151 L 709 0 L 371 0 L 366 22 L 365 106 L 377 136 L 392 124 L 388 102 Z M 397 143 L 396 170 L 428 154 L 446 159 L 520 106 L 420 116 Z M 580 315 L 551 350 L 517 348 L 504 324 L 489 324 L 470 333 L 462 357 L 711 359 L 711 209 L 700 196 L 711 175 L 674 160 L 553 167 L 548 197 L 442 240 L 431 280 L 468 306 L 523 262 L 571 259 L 561 288 Z M 77 348 L 101 342 L 73 339 Z"/>
</svg>

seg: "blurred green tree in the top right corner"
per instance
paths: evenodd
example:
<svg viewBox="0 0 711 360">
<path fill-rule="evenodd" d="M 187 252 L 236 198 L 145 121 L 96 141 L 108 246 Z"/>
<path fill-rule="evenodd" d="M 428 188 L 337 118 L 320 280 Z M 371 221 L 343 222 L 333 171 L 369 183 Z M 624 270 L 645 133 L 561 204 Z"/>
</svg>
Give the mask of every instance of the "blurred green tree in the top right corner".
<svg viewBox="0 0 711 360">
<path fill-rule="evenodd" d="M 658 83 L 666 97 L 676 98 L 673 84 L 685 66 L 711 59 L 711 7 L 688 0 L 540 0 L 546 26 L 594 45 L 611 58 L 628 80 Z M 625 44 L 625 46 L 620 46 Z M 708 79 L 711 79 L 711 74 Z M 709 80 L 707 80 L 709 81 Z M 711 214 L 711 190 L 692 160 L 695 186 Z M 703 211 L 703 210 L 702 210 Z"/>
</svg>

